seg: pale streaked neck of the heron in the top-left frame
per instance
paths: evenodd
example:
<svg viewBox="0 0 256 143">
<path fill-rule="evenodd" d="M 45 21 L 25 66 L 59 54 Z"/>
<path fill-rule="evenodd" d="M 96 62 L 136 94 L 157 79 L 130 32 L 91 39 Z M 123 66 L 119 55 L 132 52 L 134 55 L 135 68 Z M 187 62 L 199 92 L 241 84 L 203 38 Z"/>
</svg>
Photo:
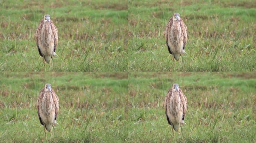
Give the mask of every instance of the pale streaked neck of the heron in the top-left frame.
<svg viewBox="0 0 256 143">
<path fill-rule="evenodd" d="M 50 44 L 50 40 L 51 40 L 51 37 L 52 37 L 52 29 L 51 29 L 51 24 L 49 22 L 44 22 L 43 23 L 43 28 L 42 28 L 42 44 L 45 46 L 45 47 L 48 47 L 48 45 Z"/>
</svg>

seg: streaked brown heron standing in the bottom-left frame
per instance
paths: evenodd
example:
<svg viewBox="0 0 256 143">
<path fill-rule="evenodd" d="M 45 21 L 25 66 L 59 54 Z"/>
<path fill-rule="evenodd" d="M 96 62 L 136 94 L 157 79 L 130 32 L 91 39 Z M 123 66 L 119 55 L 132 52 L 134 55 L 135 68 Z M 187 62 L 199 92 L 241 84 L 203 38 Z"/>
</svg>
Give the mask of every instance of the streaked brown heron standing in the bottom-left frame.
<svg viewBox="0 0 256 143">
<path fill-rule="evenodd" d="M 37 98 L 37 115 L 45 131 L 51 132 L 52 126 L 57 124 L 59 111 L 59 98 L 52 89 L 51 84 L 45 84 Z"/>
</svg>

